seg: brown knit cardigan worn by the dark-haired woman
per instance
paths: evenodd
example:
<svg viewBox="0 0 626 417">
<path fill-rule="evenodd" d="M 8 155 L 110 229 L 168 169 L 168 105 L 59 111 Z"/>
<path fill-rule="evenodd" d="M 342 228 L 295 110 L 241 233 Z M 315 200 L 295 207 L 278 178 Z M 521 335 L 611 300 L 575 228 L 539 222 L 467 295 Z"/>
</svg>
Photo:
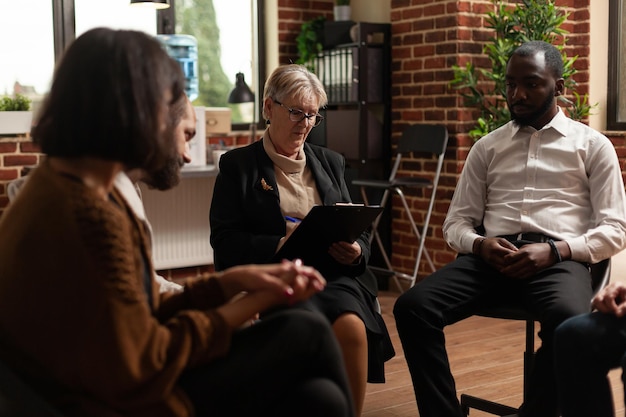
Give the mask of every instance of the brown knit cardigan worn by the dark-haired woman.
<svg viewBox="0 0 626 417">
<path fill-rule="evenodd" d="M 122 197 L 45 162 L 30 175 L 0 219 L 2 360 L 67 416 L 193 415 L 181 372 L 230 344 L 218 280 L 147 297 L 146 233 Z"/>
</svg>

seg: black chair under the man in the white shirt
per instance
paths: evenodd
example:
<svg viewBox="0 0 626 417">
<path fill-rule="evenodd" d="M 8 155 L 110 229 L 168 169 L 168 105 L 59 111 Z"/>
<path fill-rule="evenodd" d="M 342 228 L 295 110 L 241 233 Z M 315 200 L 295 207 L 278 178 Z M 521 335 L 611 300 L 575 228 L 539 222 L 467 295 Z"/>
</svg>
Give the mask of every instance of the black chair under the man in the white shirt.
<svg viewBox="0 0 626 417">
<path fill-rule="evenodd" d="M 591 265 L 591 280 L 594 295 L 604 288 L 611 278 L 611 258 Z M 485 306 L 476 313 L 478 316 L 492 317 L 506 320 L 526 321 L 526 349 L 524 351 L 524 391 L 523 398 L 526 399 L 529 389 L 530 372 L 535 357 L 535 321 L 537 318 L 525 310 L 522 306 Z M 516 414 L 519 410 L 515 407 L 496 403 L 484 398 L 474 397 L 468 394 L 461 394 L 461 407 L 465 415 L 469 415 L 470 409 L 481 410 L 497 416 L 508 416 Z"/>
</svg>

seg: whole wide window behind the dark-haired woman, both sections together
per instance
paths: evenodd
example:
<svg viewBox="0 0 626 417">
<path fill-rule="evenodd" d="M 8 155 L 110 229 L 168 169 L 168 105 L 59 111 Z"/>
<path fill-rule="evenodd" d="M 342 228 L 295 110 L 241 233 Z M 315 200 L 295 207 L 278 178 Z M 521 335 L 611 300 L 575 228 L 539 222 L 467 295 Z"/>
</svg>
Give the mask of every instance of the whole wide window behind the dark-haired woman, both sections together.
<svg viewBox="0 0 626 417">
<path fill-rule="evenodd" d="M 187 33 L 198 39 L 201 94 L 194 104 L 231 107 L 233 129 L 258 123 L 261 109 L 256 104 L 265 80 L 264 0 L 170 2 L 172 7 L 159 12 L 132 7 L 130 0 L 107 0 L 98 8 L 93 7 L 93 0 L 14 2 L 10 12 L 0 13 L 0 36 L 5 39 L 0 49 L 0 95 L 27 91 L 40 101 L 50 88 L 55 60 L 76 36 L 96 26 L 150 34 Z M 28 22 L 28 30 L 24 30 L 24 22 Z M 244 74 L 256 96 L 248 109 L 246 104 L 227 102 L 238 72 Z"/>
</svg>

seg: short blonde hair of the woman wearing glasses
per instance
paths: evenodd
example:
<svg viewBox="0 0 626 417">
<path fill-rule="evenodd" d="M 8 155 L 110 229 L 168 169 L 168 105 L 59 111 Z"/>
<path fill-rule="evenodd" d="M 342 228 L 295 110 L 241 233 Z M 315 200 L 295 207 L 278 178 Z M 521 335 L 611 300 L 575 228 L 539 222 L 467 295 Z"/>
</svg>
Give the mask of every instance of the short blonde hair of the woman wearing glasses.
<svg viewBox="0 0 626 417">
<path fill-rule="evenodd" d="M 320 108 L 328 103 L 326 91 L 317 75 L 303 65 L 288 64 L 276 68 L 270 74 L 265 82 L 263 101 L 265 102 L 267 98 L 283 101 L 286 97 L 304 99 L 311 96 L 317 98 Z M 267 119 L 265 109 L 263 109 L 263 117 Z"/>
</svg>

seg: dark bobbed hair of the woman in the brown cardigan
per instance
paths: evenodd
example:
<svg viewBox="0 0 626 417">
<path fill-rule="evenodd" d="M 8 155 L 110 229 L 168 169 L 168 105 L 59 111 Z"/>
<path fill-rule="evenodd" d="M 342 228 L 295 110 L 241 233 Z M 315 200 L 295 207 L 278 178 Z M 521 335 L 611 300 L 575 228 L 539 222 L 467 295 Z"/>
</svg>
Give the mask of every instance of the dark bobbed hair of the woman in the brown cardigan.
<svg viewBox="0 0 626 417">
<path fill-rule="evenodd" d="M 72 42 L 56 68 L 33 140 L 50 156 L 120 161 L 127 169 L 158 166 L 171 152 L 168 107 L 183 89 L 180 66 L 155 38 L 92 29 Z"/>
</svg>

